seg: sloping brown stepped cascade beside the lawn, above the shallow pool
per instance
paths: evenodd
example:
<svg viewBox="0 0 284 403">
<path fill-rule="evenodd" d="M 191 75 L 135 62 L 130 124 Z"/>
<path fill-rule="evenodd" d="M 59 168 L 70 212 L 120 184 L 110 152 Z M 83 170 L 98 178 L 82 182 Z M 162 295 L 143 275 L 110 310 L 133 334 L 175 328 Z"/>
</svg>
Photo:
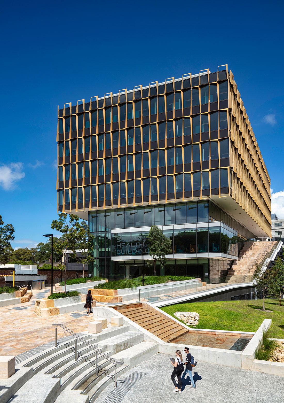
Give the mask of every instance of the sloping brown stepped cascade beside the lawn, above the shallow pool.
<svg viewBox="0 0 284 403">
<path fill-rule="evenodd" d="M 129 305 L 128 308 L 124 306 L 123 309 L 117 307 L 117 310 L 120 314 L 133 320 L 133 322 L 139 324 L 165 342 L 170 342 L 176 337 L 188 332 L 186 328 L 176 323 L 174 320 L 162 316 L 162 314 L 159 315 L 160 312 L 151 312 L 147 307 L 142 306 L 142 304 L 141 307 L 131 307 L 131 305 Z"/>
</svg>

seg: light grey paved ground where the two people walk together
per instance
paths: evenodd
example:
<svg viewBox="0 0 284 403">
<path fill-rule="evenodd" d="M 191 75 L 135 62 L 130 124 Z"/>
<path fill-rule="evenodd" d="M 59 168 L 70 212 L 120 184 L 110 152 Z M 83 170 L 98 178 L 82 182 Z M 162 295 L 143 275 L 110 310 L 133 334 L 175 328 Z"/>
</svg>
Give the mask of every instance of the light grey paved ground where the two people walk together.
<svg viewBox="0 0 284 403">
<path fill-rule="evenodd" d="M 174 351 L 171 356 L 174 356 Z M 174 385 L 170 379 L 172 365 L 169 357 L 158 353 L 118 377 L 119 380 L 123 380 L 135 371 L 146 373 L 119 402 L 283 403 L 284 401 L 283 378 L 280 376 L 203 361 L 199 361 L 193 370 L 197 389 L 191 389 L 189 379 L 185 378 L 182 393 L 173 393 Z M 122 385 L 118 384 L 118 388 Z M 110 384 L 95 402 L 104 403 L 113 390 L 114 385 Z"/>
</svg>

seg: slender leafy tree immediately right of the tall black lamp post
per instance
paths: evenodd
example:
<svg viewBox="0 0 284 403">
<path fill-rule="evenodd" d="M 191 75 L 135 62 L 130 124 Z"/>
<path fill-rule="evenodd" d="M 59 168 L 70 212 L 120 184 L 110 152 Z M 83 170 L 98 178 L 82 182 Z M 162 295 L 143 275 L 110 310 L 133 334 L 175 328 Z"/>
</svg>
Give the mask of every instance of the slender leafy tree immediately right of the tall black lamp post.
<svg viewBox="0 0 284 403">
<path fill-rule="evenodd" d="M 60 254 L 63 252 L 63 262 L 58 266 L 60 270 L 64 270 L 64 292 L 66 293 L 66 263 L 67 263 L 67 250 L 71 250 L 70 257 L 75 258 L 75 249 L 77 247 L 77 242 L 79 240 L 78 231 L 80 230 L 79 217 L 75 214 L 69 215 L 69 222 L 67 220 L 66 213 L 58 214 L 59 219 L 53 220 L 51 228 L 62 233 L 62 237 L 58 239 L 55 244 L 54 249 L 56 253 Z"/>
</svg>

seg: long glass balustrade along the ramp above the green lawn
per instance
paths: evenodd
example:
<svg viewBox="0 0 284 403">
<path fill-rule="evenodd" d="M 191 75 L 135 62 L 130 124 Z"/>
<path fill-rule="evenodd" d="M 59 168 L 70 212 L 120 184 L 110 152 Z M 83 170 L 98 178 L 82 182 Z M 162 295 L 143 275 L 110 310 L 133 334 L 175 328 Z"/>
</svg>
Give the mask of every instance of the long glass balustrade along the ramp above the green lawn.
<svg viewBox="0 0 284 403">
<path fill-rule="evenodd" d="M 247 276 L 245 283 L 251 283 L 251 278 L 252 276 Z M 182 295 L 224 287 L 225 285 L 244 283 L 243 274 L 210 279 L 204 278 L 203 280 L 196 279 L 196 282 L 184 282 L 182 284 L 168 283 L 157 285 L 157 287 L 149 287 L 148 289 L 139 289 L 139 301 L 154 302 L 160 299 L 180 297 Z"/>
</svg>

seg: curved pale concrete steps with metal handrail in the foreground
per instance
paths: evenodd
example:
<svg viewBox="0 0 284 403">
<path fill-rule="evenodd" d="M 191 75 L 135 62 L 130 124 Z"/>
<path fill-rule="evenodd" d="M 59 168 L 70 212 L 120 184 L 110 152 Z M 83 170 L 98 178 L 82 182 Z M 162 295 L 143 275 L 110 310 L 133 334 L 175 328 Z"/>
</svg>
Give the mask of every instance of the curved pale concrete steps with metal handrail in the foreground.
<svg viewBox="0 0 284 403">
<path fill-rule="evenodd" d="M 145 359 L 158 353 L 158 343 L 144 340 L 140 331 L 129 325 L 114 328 L 108 326 L 100 334 L 83 337 L 91 345 L 120 361 L 116 364 L 119 376 Z M 98 395 L 114 381 L 115 365 L 96 351 L 75 339 L 49 348 L 21 363 L 16 373 L 0 391 L 0 403 L 93 403 Z"/>
</svg>

